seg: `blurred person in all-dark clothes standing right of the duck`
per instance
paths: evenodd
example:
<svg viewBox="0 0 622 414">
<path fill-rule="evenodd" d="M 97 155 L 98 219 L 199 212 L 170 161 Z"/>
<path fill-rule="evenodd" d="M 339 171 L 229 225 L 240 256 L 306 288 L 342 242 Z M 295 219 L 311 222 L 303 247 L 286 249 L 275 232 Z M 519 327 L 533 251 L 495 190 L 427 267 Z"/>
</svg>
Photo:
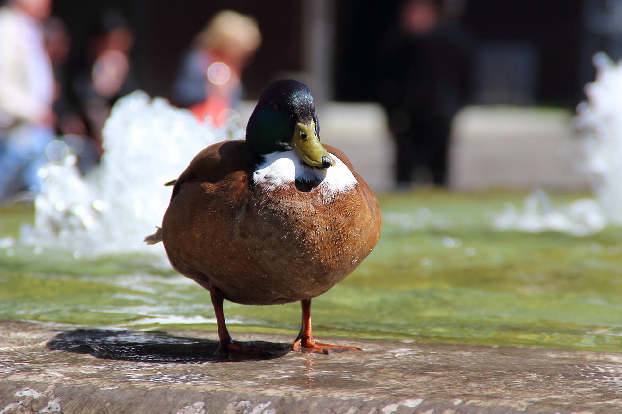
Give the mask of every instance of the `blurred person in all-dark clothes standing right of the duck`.
<svg viewBox="0 0 622 414">
<path fill-rule="evenodd" d="M 470 40 L 442 2 L 402 2 L 399 25 L 380 45 L 379 101 L 396 139 L 398 188 L 447 184 L 453 116 L 468 97 Z"/>
</svg>

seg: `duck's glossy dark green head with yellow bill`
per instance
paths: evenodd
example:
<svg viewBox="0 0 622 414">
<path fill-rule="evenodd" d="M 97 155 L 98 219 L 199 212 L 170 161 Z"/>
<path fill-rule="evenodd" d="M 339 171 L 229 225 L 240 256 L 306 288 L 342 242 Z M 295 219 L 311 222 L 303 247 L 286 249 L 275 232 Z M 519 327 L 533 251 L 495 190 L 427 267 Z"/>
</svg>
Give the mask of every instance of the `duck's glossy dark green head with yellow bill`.
<svg viewBox="0 0 622 414">
<path fill-rule="evenodd" d="M 295 80 L 279 80 L 264 90 L 248 120 L 246 144 L 259 155 L 292 149 L 312 167 L 335 165 L 320 144 L 311 91 Z"/>
</svg>

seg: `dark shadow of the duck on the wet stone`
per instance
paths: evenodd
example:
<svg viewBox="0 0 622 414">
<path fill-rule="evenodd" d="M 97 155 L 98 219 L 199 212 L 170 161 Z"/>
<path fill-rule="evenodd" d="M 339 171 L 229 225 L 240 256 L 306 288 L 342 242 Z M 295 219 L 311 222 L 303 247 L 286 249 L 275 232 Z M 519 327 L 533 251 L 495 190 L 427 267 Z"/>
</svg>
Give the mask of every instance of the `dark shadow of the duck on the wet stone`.
<svg viewBox="0 0 622 414">
<path fill-rule="evenodd" d="M 218 341 L 172 336 L 165 332 L 75 329 L 57 334 L 45 347 L 52 351 L 90 354 L 100 359 L 134 362 L 203 363 L 260 361 L 279 358 L 291 345 L 265 341 L 240 342 L 256 349 L 256 355 L 216 355 Z"/>
</svg>

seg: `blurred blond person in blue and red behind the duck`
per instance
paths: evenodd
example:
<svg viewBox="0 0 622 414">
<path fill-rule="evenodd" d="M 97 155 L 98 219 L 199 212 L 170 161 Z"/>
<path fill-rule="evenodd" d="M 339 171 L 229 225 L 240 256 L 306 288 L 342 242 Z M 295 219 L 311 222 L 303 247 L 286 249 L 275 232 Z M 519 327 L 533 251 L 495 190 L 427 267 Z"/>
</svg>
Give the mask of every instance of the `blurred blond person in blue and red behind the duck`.
<svg viewBox="0 0 622 414">
<path fill-rule="evenodd" d="M 200 121 L 226 121 L 242 94 L 240 77 L 261 45 L 257 22 L 231 10 L 218 12 L 199 32 L 182 58 L 173 90 L 174 103 L 190 108 Z"/>
</svg>

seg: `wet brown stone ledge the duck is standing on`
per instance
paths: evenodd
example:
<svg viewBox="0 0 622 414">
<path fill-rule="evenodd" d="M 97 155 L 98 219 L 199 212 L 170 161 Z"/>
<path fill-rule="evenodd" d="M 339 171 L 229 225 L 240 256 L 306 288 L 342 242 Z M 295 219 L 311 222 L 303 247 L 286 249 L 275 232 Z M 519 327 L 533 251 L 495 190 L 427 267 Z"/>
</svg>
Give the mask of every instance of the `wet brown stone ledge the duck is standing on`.
<svg viewBox="0 0 622 414">
<path fill-rule="evenodd" d="M 0 413 L 622 412 L 622 354 L 333 338 L 364 351 L 218 362 L 215 338 L 0 323 Z"/>
</svg>

